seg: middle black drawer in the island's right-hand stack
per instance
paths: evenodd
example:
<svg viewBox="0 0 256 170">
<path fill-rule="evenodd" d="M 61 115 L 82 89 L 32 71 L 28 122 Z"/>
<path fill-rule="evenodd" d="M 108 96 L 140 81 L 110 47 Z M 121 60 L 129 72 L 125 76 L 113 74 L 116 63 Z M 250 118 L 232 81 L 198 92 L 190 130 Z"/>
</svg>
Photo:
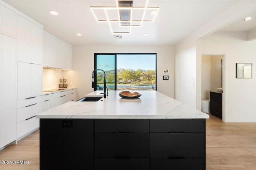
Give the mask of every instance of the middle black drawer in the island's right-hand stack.
<svg viewBox="0 0 256 170">
<path fill-rule="evenodd" d="M 204 157 L 204 133 L 150 133 L 150 157 Z"/>
</svg>

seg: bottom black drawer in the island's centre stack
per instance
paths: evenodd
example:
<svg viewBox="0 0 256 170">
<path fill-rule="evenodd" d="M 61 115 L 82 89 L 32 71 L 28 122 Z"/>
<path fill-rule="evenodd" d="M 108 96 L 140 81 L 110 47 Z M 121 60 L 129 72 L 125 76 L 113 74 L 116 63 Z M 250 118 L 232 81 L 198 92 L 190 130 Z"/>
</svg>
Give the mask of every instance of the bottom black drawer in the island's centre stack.
<svg viewBox="0 0 256 170">
<path fill-rule="evenodd" d="M 148 170 L 148 158 L 96 158 L 95 170 Z"/>
</svg>

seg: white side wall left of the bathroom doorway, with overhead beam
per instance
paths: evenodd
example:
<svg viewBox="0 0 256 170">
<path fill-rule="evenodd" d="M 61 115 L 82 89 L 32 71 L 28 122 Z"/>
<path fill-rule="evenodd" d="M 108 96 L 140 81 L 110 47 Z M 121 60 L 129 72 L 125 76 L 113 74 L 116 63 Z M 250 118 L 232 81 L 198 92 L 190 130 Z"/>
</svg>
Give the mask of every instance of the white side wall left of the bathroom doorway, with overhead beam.
<svg viewBox="0 0 256 170">
<path fill-rule="evenodd" d="M 256 0 L 238 1 L 175 46 L 175 99 L 201 110 L 202 52 L 200 38 L 224 28 L 255 10 Z M 195 79 L 194 87 L 191 83 L 193 79 Z"/>
</svg>

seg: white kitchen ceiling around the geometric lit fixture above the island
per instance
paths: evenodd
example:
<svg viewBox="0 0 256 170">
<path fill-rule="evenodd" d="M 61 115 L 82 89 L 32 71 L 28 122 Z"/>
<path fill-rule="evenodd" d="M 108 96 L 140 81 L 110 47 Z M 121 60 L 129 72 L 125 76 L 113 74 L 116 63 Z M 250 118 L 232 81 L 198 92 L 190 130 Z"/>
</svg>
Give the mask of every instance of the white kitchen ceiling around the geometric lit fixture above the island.
<svg viewBox="0 0 256 170">
<path fill-rule="evenodd" d="M 224 12 L 238 0 L 150 0 L 159 7 L 153 23 L 132 28 L 131 34 L 112 34 L 108 23 L 96 22 L 90 6 L 116 6 L 115 0 L 4 0 L 70 45 L 175 45 Z M 134 0 L 133 5 L 142 4 Z M 59 16 L 53 16 L 54 10 Z M 256 19 L 256 18 L 255 18 Z M 239 25 L 239 24 L 238 24 Z M 224 28 L 225 29 L 225 28 Z M 82 36 L 76 36 L 77 33 Z M 149 33 L 149 36 L 143 36 Z M 123 39 L 114 39 L 122 35 Z"/>
</svg>

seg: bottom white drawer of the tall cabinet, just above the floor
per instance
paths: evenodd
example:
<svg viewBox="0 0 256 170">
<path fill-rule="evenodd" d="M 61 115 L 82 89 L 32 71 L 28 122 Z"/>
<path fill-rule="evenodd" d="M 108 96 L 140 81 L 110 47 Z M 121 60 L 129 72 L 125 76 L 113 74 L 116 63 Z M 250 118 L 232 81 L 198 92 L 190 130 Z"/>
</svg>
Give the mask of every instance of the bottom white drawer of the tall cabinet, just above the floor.
<svg viewBox="0 0 256 170">
<path fill-rule="evenodd" d="M 39 119 L 36 119 L 36 117 L 17 123 L 17 138 L 20 138 L 38 127 Z"/>
</svg>

